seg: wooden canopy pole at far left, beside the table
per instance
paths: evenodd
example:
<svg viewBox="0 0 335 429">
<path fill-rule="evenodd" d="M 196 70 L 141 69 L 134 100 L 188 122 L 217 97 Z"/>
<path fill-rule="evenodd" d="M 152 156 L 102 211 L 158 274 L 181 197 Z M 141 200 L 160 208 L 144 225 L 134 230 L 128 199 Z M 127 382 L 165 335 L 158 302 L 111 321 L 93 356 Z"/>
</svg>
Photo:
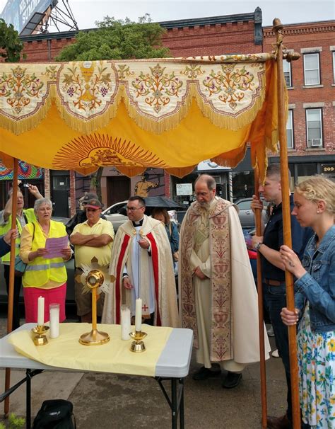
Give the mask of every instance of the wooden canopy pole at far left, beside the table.
<svg viewBox="0 0 335 429">
<path fill-rule="evenodd" d="M 13 194 L 11 205 L 11 229 L 16 229 L 16 209 L 18 207 L 18 160 L 13 159 Z M 13 301 L 14 301 L 14 276 L 15 276 L 15 251 L 16 243 L 13 236 L 11 237 L 11 259 L 9 269 L 9 287 L 8 287 L 8 318 L 7 318 L 7 333 L 13 329 Z M 9 389 L 11 384 L 11 368 L 6 368 L 5 372 L 5 391 Z M 9 413 L 9 396 L 4 401 L 4 415 Z"/>
</svg>

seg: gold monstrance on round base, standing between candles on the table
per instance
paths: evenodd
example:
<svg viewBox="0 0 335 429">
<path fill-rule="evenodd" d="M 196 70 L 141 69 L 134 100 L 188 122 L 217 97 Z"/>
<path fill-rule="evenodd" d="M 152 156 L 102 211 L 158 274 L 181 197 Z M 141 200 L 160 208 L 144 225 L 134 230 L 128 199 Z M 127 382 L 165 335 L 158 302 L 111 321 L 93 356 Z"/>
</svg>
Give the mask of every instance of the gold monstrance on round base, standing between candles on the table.
<svg viewBox="0 0 335 429">
<path fill-rule="evenodd" d="M 92 331 L 83 333 L 79 343 L 83 345 L 100 345 L 110 341 L 107 332 L 99 332 L 97 329 L 97 287 L 104 282 L 104 276 L 100 270 L 91 270 L 86 277 L 86 285 L 92 290 Z"/>
</svg>

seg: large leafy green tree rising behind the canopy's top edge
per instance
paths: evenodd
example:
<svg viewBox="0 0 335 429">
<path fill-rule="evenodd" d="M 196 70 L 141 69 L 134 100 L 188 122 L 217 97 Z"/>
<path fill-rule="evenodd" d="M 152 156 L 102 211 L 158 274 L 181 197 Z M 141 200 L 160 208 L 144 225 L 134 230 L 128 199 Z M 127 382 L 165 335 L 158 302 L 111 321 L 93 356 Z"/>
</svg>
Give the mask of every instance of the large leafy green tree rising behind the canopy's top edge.
<svg viewBox="0 0 335 429">
<path fill-rule="evenodd" d="M 98 28 L 95 30 L 79 32 L 75 42 L 59 52 L 56 61 L 164 58 L 170 55 L 170 50 L 162 43 L 165 29 L 151 22 L 148 13 L 140 17 L 137 23 L 128 18 L 115 20 L 114 17 L 105 16 L 96 25 Z M 100 200 L 101 176 L 102 167 L 93 177 Z"/>
</svg>

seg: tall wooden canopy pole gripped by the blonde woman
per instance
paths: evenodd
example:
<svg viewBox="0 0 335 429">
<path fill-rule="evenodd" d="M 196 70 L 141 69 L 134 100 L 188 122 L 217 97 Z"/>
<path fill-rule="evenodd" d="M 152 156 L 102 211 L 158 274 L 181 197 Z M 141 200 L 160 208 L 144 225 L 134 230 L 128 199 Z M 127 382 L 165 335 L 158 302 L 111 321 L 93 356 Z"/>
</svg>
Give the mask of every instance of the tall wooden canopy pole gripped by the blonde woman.
<svg viewBox="0 0 335 429">
<path fill-rule="evenodd" d="M 284 100 L 284 76 L 283 76 L 283 25 L 278 18 L 274 19 L 274 32 L 276 33 L 277 47 L 277 88 L 278 88 L 278 130 L 281 159 L 281 195 L 283 210 L 283 242 L 292 248 L 292 236 L 290 227 L 290 186 L 288 183 L 288 151 L 286 141 L 286 111 Z M 293 275 L 285 271 L 286 281 L 286 305 L 289 310 L 294 310 Z M 293 428 L 300 429 L 300 402 L 298 380 L 298 353 L 296 326 L 288 326 L 288 347 L 290 353 L 290 383 L 292 392 L 292 418 Z"/>
</svg>

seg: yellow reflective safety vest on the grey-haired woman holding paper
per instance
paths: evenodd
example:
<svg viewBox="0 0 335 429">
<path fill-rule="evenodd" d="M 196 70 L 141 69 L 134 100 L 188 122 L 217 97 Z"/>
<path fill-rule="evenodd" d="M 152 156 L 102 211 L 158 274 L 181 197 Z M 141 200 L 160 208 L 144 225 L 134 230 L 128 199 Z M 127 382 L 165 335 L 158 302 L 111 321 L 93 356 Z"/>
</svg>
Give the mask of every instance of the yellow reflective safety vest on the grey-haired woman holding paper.
<svg viewBox="0 0 335 429">
<path fill-rule="evenodd" d="M 35 224 L 35 236 L 31 246 L 32 251 L 37 248 L 45 247 L 45 236 L 38 222 Z M 33 235 L 33 224 L 26 226 L 30 234 Z M 50 221 L 50 238 L 66 236 L 64 224 L 61 222 Z M 22 278 L 23 287 L 40 287 L 45 285 L 49 280 L 57 283 L 65 283 L 67 280 L 66 267 L 63 258 L 45 259 L 42 256 L 37 256 L 33 261 L 28 263 L 25 268 L 25 273 Z"/>
</svg>

